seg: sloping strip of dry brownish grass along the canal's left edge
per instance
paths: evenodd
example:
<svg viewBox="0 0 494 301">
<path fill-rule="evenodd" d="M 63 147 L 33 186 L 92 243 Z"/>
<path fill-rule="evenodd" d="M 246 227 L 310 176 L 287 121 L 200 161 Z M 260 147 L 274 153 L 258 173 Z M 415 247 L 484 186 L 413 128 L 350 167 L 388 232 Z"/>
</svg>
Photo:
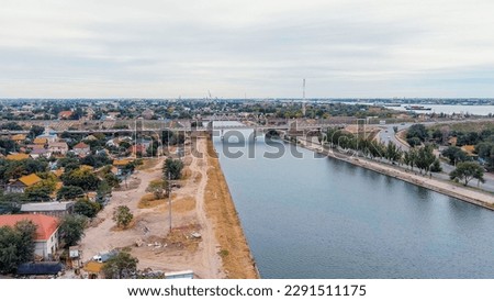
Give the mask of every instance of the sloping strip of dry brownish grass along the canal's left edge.
<svg viewBox="0 0 494 301">
<path fill-rule="evenodd" d="M 218 254 L 226 277 L 260 278 L 211 138 L 207 140 L 207 153 L 205 208 L 221 246 Z"/>
</svg>

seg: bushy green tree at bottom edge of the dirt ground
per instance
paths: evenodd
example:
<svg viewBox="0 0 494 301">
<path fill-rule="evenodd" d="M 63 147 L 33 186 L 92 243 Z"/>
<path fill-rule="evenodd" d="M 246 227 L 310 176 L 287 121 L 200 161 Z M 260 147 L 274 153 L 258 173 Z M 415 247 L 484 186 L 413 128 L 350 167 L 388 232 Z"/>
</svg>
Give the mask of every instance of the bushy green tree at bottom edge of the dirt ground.
<svg viewBox="0 0 494 301">
<path fill-rule="evenodd" d="M 102 268 L 106 279 L 131 278 L 137 271 L 138 259 L 126 252 L 120 252 L 110 258 Z"/>
</svg>

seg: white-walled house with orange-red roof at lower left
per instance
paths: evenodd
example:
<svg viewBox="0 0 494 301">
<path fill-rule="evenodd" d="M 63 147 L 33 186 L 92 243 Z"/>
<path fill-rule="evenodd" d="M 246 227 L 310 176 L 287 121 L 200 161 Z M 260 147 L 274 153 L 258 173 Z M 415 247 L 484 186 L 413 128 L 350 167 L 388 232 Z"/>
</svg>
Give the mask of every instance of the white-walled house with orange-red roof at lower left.
<svg viewBox="0 0 494 301">
<path fill-rule="evenodd" d="M 44 259 L 53 258 L 58 249 L 58 219 L 45 214 L 5 214 L 0 215 L 0 226 L 14 226 L 25 220 L 36 225 L 34 254 Z"/>
</svg>

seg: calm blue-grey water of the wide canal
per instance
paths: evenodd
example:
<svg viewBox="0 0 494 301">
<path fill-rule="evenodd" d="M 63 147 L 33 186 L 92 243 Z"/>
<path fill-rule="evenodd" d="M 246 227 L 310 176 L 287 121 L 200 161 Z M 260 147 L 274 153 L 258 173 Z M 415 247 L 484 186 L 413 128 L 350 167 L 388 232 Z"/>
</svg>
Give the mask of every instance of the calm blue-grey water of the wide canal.
<svg viewBox="0 0 494 301">
<path fill-rule="evenodd" d="M 494 277 L 494 212 L 281 142 L 274 159 L 263 137 L 236 142 L 214 140 L 262 278 Z"/>
</svg>

